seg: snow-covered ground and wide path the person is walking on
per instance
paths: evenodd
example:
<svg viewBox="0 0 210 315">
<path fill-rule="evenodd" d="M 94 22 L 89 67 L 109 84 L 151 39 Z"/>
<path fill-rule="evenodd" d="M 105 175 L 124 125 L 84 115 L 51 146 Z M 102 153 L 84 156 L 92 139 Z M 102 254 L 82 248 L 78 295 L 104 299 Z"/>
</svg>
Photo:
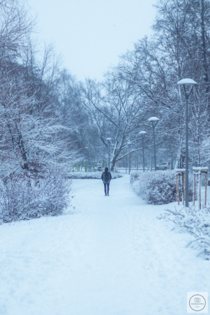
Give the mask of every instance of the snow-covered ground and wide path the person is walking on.
<svg viewBox="0 0 210 315">
<path fill-rule="evenodd" d="M 210 262 L 164 209 L 110 184 L 73 180 L 73 214 L 0 226 L 1 315 L 182 315 L 187 292 L 210 292 Z M 181 207 L 181 206 L 180 206 Z"/>
</svg>

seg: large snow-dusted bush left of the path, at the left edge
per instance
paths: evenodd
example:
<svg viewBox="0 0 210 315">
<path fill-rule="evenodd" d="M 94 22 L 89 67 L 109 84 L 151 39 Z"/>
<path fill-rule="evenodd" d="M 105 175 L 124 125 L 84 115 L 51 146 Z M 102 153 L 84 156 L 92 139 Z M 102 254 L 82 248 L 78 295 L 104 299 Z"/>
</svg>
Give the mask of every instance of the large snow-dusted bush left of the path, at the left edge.
<svg viewBox="0 0 210 315">
<path fill-rule="evenodd" d="M 68 204 L 70 181 L 61 169 L 53 168 L 40 176 L 10 174 L 0 189 L 0 220 L 10 222 L 61 214 Z"/>
</svg>

